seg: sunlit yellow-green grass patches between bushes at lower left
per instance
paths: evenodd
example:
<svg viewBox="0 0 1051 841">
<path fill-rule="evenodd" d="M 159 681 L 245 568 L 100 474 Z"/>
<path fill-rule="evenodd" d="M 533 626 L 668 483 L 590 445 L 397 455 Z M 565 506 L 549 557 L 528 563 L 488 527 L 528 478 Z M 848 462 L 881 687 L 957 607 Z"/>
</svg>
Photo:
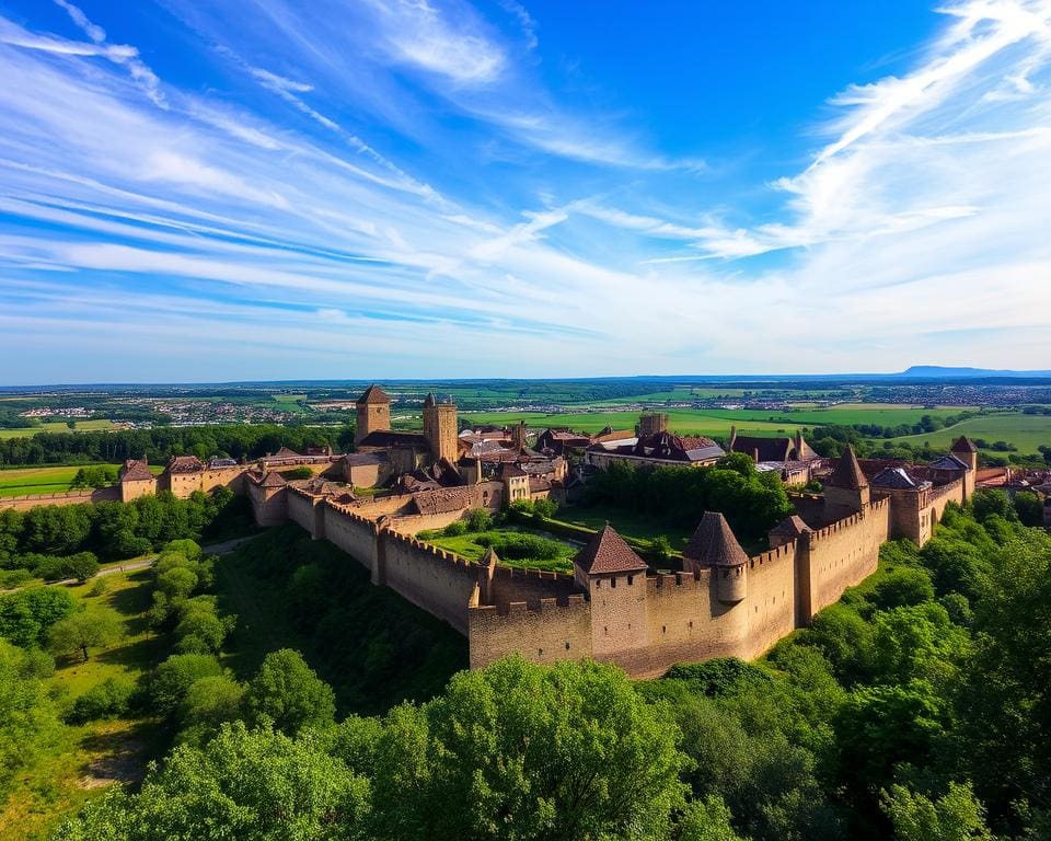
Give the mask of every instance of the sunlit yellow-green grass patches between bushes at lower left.
<svg viewBox="0 0 1051 841">
<path fill-rule="evenodd" d="M 68 703 L 107 677 L 135 681 L 168 654 L 165 642 L 148 630 L 145 611 L 152 590 L 149 569 L 115 573 L 106 589 L 89 596 L 92 581 L 70 587 L 79 601 L 106 606 L 119 613 L 124 638 L 104 650 L 59 658 L 50 683 L 60 703 Z M 62 726 L 50 749 L 19 774 L 0 808 L 0 838 L 45 839 L 61 819 L 89 797 L 117 781 L 141 775 L 145 763 L 166 748 L 150 722 L 115 719 Z"/>
</svg>

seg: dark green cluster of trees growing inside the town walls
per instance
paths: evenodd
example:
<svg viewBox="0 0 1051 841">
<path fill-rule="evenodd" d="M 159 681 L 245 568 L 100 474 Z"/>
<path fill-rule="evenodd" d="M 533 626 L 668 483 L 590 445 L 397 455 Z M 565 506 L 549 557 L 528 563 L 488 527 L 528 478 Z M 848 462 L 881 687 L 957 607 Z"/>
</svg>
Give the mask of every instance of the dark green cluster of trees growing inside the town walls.
<svg viewBox="0 0 1051 841">
<path fill-rule="evenodd" d="M 746 453 L 711 468 L 636 468 L 613 462 L 588 482 L 588 497 L 684 528 L 698 511 L 723 511 L 741 538 L 765 537 L 794 509 L 776 472 L 760 473 Z"/>
</svg>

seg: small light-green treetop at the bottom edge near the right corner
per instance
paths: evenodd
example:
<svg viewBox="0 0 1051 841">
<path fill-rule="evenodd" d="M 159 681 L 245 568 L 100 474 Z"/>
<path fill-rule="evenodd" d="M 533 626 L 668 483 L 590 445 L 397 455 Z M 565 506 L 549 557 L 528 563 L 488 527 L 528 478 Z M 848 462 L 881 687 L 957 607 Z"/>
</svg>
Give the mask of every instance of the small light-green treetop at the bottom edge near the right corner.
<svg viewBox="0 0 1051 841">
<path fill-rule="evenodd" d="M 894 826 L 896 841 L 992 841 L 985 809 L 970 783 L 950 782 L 935 800 L 893 785 L 883 792 L 881 806 Z"/>
</svg>

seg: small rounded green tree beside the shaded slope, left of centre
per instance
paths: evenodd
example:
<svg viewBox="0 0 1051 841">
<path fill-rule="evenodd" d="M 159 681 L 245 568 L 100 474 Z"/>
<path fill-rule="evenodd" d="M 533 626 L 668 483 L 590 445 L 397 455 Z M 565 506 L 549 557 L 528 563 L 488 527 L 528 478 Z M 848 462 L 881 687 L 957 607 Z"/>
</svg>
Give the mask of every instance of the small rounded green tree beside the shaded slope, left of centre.
<svg viewBox="0 0 1051 841">
<path fill-rule="evenodd" d="M 281 648 L 266 655 L 249 683 L 245 708 L 250 719 L 273 722 L 284 733 L 333 723 L 336 703 L 332 687 L 317 677 L 299 652 Z"/>
</svg>

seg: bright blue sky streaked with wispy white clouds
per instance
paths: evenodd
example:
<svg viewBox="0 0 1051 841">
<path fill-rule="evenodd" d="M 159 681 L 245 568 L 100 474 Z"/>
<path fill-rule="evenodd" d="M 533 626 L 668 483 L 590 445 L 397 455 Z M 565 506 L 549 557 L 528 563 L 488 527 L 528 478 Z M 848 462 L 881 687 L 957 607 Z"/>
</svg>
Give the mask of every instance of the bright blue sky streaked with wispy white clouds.
<svg viewBox="0 0 1051 841">
<path fill-rule="evenodd" d="M 1051 0 L 0 0 L 0 384 L 1047 368 Z"/>
</svg>

